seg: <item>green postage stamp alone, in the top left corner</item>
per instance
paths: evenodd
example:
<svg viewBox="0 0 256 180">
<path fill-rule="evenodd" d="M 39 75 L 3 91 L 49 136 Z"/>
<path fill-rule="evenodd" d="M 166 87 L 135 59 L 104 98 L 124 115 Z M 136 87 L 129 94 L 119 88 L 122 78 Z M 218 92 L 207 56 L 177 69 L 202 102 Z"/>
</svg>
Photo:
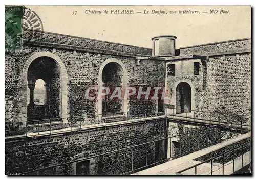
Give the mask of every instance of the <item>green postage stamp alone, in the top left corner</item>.
<svg viewBox="0 0 256 180">
<path fill-rule="evenodd" d="M 20 50 L 22 48 L 22 6 L 5 7 L 5 49 Z"/>
</svg>

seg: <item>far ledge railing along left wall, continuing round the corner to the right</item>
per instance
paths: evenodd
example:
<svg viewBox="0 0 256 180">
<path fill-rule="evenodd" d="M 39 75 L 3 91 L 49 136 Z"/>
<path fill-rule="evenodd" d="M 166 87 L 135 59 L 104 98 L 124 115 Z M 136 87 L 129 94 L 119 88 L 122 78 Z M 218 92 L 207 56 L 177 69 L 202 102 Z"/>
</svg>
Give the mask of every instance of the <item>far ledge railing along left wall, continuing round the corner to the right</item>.
<svg viewBox="0 0 256 180">
<path fill-rule="evenodd" d="M 178 111 L 184 111 L 185 113 L 176 114 Z M 201 117 L 195 116 L 195 114 L 200 114 Z M 215 121 L 214 119 L 207 119 L 207 114 L 211 114 L 211 112 L 207 111 L 199 111 L 199 110 L 184 110 L 184 109 L 146 109 L 146 110 L 137 110 L 137 111 L 127 111 L 127 112 L 117 112 L 117 113 L 104 113 L 104 114 L 95 114 L 95 115 L 86 115 L 86 116 L 73 116 L 73 117 L 65 117 L 65 118 L 50 118 L 50 119 L 30 119 L 28 121 L 19 121 L 19 122 L 11 122 L 8 118 L 5 123 L 6 127 L 6 136 L 14 138 L 16 135 L 24 135 L 28 136 L 28 133 L 31 136 L 37 134 L 51 134 L 56 132 L 56 130 L 63 131 L 77 131 L 82 129 L 89 130 L 95 126 L 108 126 L 109 124 L 120 124 L 127 122 L 137 122 L 141 120 L 147 120 L 150 118 L 163 118 L 165 116 L 170 118 L 178 118 L 177 120 L 189 120 L 190 122 L 208 122 L 209 124 L 218 122 L 219 124 L 223 123 L 222 121 Z M 194 116 L 193 116 L 194 115 Z M 244 121 L 243 121 L 244 122 Z M 241 125 L 241 128 L 250 128 L 250 118 L 247 118 L 247 121 Z M 240 124 L 238 124 L 240 125 Z M 46 132 L 46 133 L 40 133 Z"/>
</svg>

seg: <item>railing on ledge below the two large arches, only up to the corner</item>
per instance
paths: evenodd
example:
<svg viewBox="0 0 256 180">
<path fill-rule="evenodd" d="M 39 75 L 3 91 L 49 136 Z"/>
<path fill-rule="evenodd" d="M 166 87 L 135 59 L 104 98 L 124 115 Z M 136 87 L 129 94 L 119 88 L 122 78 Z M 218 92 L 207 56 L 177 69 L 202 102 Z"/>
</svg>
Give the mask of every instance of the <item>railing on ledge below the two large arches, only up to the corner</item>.
<svg viewBox="0 0 256 180">
<path fill-rule="evenodd" d="M 49 118 L 49 119 L 30 119 L 28 121 L 11 122 L 6 118 L 5 122 L 6 136 L 24 135 L 28 136 L 28 133 L 34 133 L 32 136 L 42 134 L 40 132 L 46 132 L 43 134 L 51 134 L 56 130 L 64 131 L 77 131 L 82 129 L 89 130 L 92 127 L 108 126 L 110 124 L 120 124 L 125 122 L 150 120 L 150 118 L 163 118 L 166 117 L 163 109 L 146 109 L 137 111 L 127 111 L 118 113 L 104 113 L 87 116 L 73 116 L 64 118 Z"/>
</svg>

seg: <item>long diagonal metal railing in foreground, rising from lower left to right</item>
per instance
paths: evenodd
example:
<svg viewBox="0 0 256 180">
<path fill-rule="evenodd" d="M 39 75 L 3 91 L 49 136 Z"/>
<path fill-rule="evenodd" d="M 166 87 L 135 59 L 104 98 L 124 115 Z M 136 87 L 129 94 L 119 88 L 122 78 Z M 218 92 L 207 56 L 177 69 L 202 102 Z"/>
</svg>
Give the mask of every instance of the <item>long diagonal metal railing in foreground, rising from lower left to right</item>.
<svg viewBox="0 0 256 180">
<path fill-rule="evenodd" d="M 246 119 L 243 119 L 244 121 Z M 26 172 L 20 173 L 23 175 L 46 175 L 49 170 L 51 171 L 48 175 L 53 175 L 51 173 L 55 173 L 56 169 L 61 169 L 64 166 L 77 163 L 80 161 L 86 161 L 90 159 L 95 160 L 95 167 L 94 169 L 94 175 L 106 175 L 107 172 L 114 175 L 125 175 L 125 174 L 131 174 L 133 172 L 136 172 L 138 170 L 146 169 L 148 167 L 151 167 L 153 165 L 165 162 L 167 160 L 170 160 L 172 158 L 176 158 L 179 156 L 186 155 L 186 153 L 192 153 L 195 151 L 198 151 L 200 149 L 215 145 L 220 143 L 219 141 L 211 141 L 208 143 L 202 142 L 202 135 L 208 134 L 208 132 L 214 132 L 216 128 L 222 128 L 226 130 L 226 136 L 225 139 L 222 139 L 222 141 L 231 139 L 233 137 L 237 137 L 239 134 L 247 133 L 248 130 L 242 130 L 239 128 L 239 125 L 232 125 L 232 124 L 242 124 L 241 121 L 243 120 L 237 120 L 237 121 L 231 121 L 231 122 L 225 122 L 218 125 L 213 125 L 210 127 L 205 127 L 199 130 L 183 133 L 177 136 L 162 138 L 150 142 L 146 142 L 143 144 L 133 145 L 131 147 L 126 147 L 118 150 L 113 150 L 111 152 L 105 152 L 101 153 L 99 155 L 90 156 L 87 158 L 82 158 L 75 161 L 70 161 L 67 163 L 62 163 L 58 165 L 53 165 L 49 167 L 44 167 L 40 169 L 35 170 L 29 170 L 27 169 Z M 229 125 L 230 130 L 233 132 L 233 135 L 227 136 L 227 124 Z M 222 133 L 222 132 L 220 132 Z M 188 136 L 189 135 L 189 136 Z M 210 134 L 208 134 L 210 135 Z M 172 143 L 172 138 L 180 137 L 180 139 L 184 139 L 184 137 L 193 137 L 194 139 L 198 139 L 197 145 L 192 145 L 191 141 L 188 142 L 188 146 L 183 147 L 182 143 L 180 144 L 180 147 L 177 149 L 177 147 L 172 147 L 171 145 L 166 148 L 166 145 Z M 185 139 L 186 139 L 185 138 Z M 214 137 L 213 137 L 214 138 Z M 183 149 L 182 149 L 183 148 Z M 184 151 L 184 149 L 189 149 L 188 151 Z M 172 150 L 176 150 L 175 153 L 172 153 Z M 178 152 L 178 153 L 177 153 Z M 169 156 L 168 156 L 169 153 Z M 108 159 L 109 158 L 109 159 Z M 104 164 L 104 160 L 108 159 L 108 162 L 114 162 L 113 164 Z M 113 160 L 113 161 L 112 161 Z M 124 165 L 123 165 L 124 164 Z M 48 172 L 49 173 L 49 172 Z M 65 173 L 65 172 L 63 172 Z M 63 175 L 63 174 L 62 174 Z M 66 174 L 71 175 L 71 174 Z"/>
</svg>

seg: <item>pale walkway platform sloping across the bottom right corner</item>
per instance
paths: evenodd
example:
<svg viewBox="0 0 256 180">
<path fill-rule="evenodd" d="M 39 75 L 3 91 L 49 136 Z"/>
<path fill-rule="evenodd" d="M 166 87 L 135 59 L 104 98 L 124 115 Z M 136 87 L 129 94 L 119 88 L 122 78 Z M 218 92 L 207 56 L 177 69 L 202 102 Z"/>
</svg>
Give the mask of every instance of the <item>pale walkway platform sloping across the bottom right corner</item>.
<svg viewBox="0 0 256 180">
<path fill-rule="evenodd" d="M 208 153 L 214 152 L 214 151 L 216 151 L 220 148 L 229 146 L 233 143 L 239 142 L 243 139 L 249 138 L 250 135 L 251 135 L 250 132 L 246 133 L 246 134 L 243 134 L 243 135 L 239 135 L 237 138 L 233 138 L 233 139 L 230 139 L 228 141 L 224 141 L 222 143 L 216 144 L 214 146 L 199 150 L 197 152 L 190 153 L 189 155 L 183 156 L 181 158 L 170 160 L 166 163 L 163 163 L 163 164 L 145 169 L 143 171 L 134 173 L 132 175 L 176 175 L 176 172 L 181 171 L 183 169 L 186 169 L 188 167 L 191 167 L 195 164 L 200 163 L 198 161 L 195 161 L 194 159 L 199 158 L 199 157 L 204 156 L 204 155 L 207 155 Z M 250 162 L 249 153 L 250 152 L 247 152 L 243 156 L 243 166 L 247 165 Z M 242 164 L 240 162 L 241 158 L 238 157 L 238 158 L 235 159 L 235 161 L 236 161 L 235 162 L 235 166 L 236 166 L 235 170 L 238 170 L 242 167 Z M 222 165 L 214 163 L 213 170 L 214 170 L 213 175 L 222 174 Z M 231 172 L 233 172 L 232 170 L 233 170 L 232 169 L 232 163 L 230 163 L 230 162 L 226 163 L 225 167 L 224 167 L 224 175 L 231 174 Z M 195 170 L 191 169 L 191 170 L 188 170 L 188 171 L 182 173 L 182 175 L 183 174 L 184 175 L 188 175 L 188 174 L 189 175 L 194 175 Z M 210 164 L 209 163 L 204 163 L 204 164 L 197 167 L 197 175 L 208 175 L 208 174 L 210 175 Z"/>
</svg>

